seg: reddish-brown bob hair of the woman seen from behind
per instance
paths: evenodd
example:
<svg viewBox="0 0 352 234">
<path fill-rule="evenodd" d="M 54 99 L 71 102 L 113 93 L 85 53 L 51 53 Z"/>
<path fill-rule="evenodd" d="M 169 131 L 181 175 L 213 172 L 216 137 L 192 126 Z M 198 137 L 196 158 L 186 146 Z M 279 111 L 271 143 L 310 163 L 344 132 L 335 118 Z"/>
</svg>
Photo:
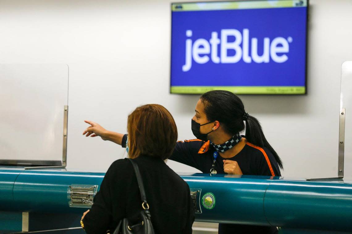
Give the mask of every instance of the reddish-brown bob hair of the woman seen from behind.
<svg viewBox="0 0 352 234">
<path fill-rule="evenodd" d="M 177 127 L 170 112 L 158 104 L 137 107 L 127 119 L 128 155 L 166 160 L 175 149 Z"/>
</svg>

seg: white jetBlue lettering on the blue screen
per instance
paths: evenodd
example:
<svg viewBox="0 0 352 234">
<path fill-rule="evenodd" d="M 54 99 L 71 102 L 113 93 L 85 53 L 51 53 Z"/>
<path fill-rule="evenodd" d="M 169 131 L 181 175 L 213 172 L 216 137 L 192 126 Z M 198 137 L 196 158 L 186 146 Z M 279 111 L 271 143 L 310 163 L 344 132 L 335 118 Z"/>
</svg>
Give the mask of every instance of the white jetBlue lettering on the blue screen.
<svg viewBox="0 0 352 234">
<path fill-rule="evenodd" d="M 204 64 L 209 61 L 213 63 L 237 63 L 241 59 L 245 63 L 282 63 L 288 60 L 289 43 L 293 38 L 289 36 L 287 39 L 276 37 L 270 41 L 269 37 L 265 37 L 263 43 L 263 53 L 258 55 L 258 38 L 250 38 L 249 29 L 243 29 L 241 33 L 237 29 L 222 29 L 220 38 L 218 32 L 212 32 L 211 38 L 208 40 L 199 38 L 193 42 L 191 39 L 192 30 L 186 31 L 186 51 L 185 64 L 182 71 L 187 72 L 192 67 L 192 61 L 198 64 Z M 234 37 L 234 41 L 228 41 L 229 37 Z M 218 52 L 218 46 L 220 51 Z M 251 48 L 251 54 L 249 54 Z M 228 51 L 235 52 L 234 55 L 228 55 Z M 278 55 L 278 53 L 280 55 Z"/>
</svg>

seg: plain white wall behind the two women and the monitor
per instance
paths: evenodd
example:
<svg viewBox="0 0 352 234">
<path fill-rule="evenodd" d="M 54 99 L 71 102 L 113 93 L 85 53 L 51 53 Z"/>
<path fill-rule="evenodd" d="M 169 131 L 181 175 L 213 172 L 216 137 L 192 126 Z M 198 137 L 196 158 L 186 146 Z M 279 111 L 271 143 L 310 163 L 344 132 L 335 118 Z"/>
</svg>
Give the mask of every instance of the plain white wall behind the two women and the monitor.
<svg viewBox="0 0 352 234">
<path fill-rule="evenodd" d="M 240 96 L 283 159 L 284 176 L 337 176 L 340 72 L 352 60 L 351 12 L 350 0 L 310 1 L 308 95 Z M 103 172 L 125 157 L 111 142 L 84 138 L 83 120 L 125 132 L 127 114 L 141 104 L 164 105 L 179 139 L 193 139 L 199 96 L 169 94 L 169 58 L 170 1 L 0 0 L 0 63 L 70 67 L 69 170 Z M 351 176 L 351 156 L 345 164 Z"/>
</svg>

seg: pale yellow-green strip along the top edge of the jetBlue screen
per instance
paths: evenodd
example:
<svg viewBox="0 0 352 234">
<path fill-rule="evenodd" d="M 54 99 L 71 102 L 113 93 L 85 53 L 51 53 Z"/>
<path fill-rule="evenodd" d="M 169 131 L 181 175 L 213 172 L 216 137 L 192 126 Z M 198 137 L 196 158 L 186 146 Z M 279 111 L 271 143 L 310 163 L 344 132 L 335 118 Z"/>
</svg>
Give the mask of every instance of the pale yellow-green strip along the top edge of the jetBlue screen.
<svg viewBox="0 0 352 234">
<path fill-rule="evenodd" d="M 189 2 L 173 3 L 172 11 L 211 11 L 230 9 L 262 9 L 283 7 L 306 7 L 307 0 L 280 0 L 280 1 L 237 1 L 237 2 Z"/>
</svg>

